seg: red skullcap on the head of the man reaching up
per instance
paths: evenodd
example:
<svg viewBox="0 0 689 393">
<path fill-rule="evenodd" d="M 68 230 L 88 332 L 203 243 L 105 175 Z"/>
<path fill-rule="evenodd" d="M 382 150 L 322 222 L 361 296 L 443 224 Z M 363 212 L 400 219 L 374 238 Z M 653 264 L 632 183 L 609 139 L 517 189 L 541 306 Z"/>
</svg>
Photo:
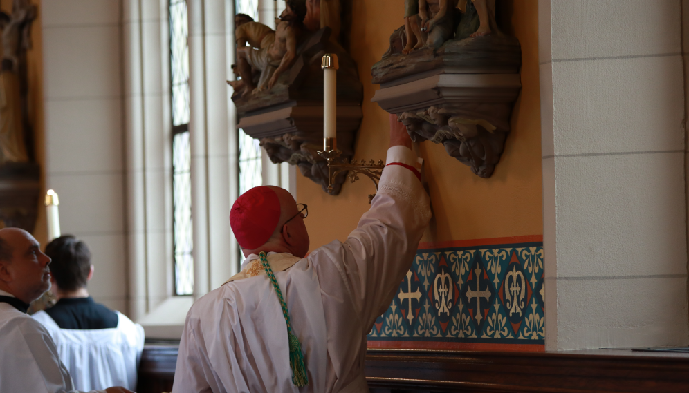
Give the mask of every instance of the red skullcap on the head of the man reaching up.
<svg viewBox="0 0 689 393">
<path fill-rule="evenodd" d="M 280 200 L 268 186 L 239 195 L 230 210 L 230 227 L 244 249 L 257 249 L 273 235 L 280 220 Z"/>
</svg>

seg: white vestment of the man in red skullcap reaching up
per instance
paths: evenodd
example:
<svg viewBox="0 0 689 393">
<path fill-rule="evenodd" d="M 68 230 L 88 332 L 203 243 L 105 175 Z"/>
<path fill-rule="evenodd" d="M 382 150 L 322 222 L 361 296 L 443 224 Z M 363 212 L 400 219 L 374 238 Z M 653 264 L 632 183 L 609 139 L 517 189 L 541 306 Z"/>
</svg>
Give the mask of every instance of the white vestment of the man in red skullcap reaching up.
<svg viewBox="0 0 689 393">
<path fill-rule="evenodd" d="M 393 162 L 413 167 L 417 159 L 409 148 L 395 146 L 387 153 L 387 163 Z M 367 392 L 366 336 L 410 268 L 429 220 L 429 198 L 414 172 L 389 165 L 371 208 L 345 242 L 315 249 L 284 270 L 275 268 L 294 257 L 268 255 L 302 345 L 309 385 L 297 388 L 291 381 L 282 309 L 270 280 L 259 274 L 228 282 L 194 303 L 172 392 Z M 249 256 L 242 271 L 250 271 L 256 258 Z"/>
</svg>

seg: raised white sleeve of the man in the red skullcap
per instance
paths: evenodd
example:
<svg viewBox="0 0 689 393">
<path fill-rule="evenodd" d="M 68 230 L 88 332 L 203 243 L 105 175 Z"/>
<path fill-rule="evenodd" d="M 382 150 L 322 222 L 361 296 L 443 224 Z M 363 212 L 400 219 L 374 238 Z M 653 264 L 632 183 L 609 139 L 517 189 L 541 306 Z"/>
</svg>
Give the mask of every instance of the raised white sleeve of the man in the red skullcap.
<svg viewBox="0 0 689 393">
<path fill-rule="evenodd" d="M 371 208 L 342 244 L 345 285 L 365 333 L 392 301 L 430 221 L 430 199 L 417 166 L 410 148 L 389 148 Z"/>
</svg>

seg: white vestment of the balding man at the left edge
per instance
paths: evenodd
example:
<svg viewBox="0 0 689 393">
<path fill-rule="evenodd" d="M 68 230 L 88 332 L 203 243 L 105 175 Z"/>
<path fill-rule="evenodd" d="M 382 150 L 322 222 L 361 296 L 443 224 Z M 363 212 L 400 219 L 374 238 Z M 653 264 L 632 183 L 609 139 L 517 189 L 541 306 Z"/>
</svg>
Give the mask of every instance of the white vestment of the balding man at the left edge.
<svg viewBox="0 0 689 393">
<path fill-rule="evenodd" d="M 0 303 L 0 392 L 77 392 L 48 330 L 8 303 Z"/>
</svg>

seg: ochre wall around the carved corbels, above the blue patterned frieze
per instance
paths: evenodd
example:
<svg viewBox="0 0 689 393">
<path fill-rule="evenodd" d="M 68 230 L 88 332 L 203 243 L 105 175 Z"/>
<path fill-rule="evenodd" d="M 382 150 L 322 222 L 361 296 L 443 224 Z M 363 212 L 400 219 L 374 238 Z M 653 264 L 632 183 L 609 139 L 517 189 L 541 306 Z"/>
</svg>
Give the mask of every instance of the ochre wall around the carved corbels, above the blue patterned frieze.
<svg viewBox="0 0 689 393">
<path fill-rule="evenodd" d="M 542 235 L 540 99 L 538 84 L 538 7 L 536 0 L 502 1 L 506 30 L 522 45 L 522 93 L 512 114 L 512 131 L 491 178 L 474 175 L 468 166 L 445 153 L 440 144 L 419 145 L 434 216 L 422 242 Z M 351 53 L 364 85 L 364 118 L 355 157 L 385 159 L 389 144 L 388 114 L 371 97 L 371 66 L 389 46 L 390 34 L 403 24 L 399 0 L 353 1 Z M 334 239 L 344 240 L 369 208 L 374 193 L 367 178 L 345 183 L 331 196 L 311 180 L 297 175 L 297 202 L 309 205 L 305 220 L 311 250 Z"/>
</svg>

